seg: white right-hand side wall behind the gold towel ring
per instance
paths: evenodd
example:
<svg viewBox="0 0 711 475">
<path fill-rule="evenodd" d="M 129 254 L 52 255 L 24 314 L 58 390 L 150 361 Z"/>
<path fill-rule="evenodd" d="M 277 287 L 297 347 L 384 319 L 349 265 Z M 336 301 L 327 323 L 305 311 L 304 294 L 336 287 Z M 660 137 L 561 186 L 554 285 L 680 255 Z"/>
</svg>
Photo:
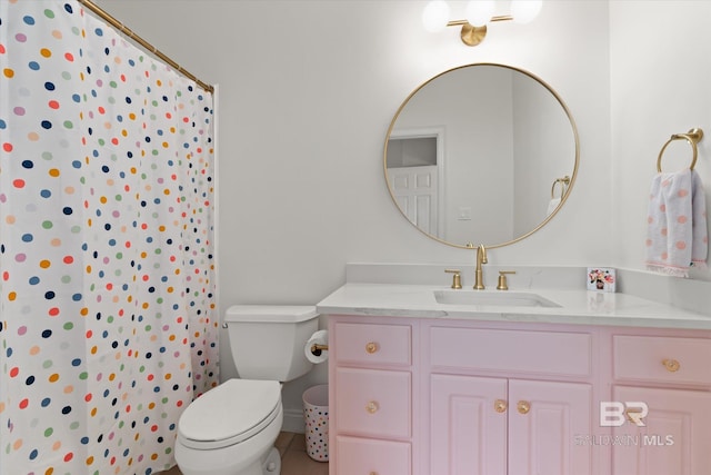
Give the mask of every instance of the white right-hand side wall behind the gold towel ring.
<svg viewBox="0 0 711 475">
<path fill-rule="evenodd" d="M 610 2 L 612 241 L 619 267 L 644 259 L 647 206 L 660 149 L 672 133 L 700 127 L 695 169 L 711 209 L 711 2 Z M 688 167 L 691 147 L 674 141 L 662 169 Z M 711 271 L 697 270 L 711 280 Z"/>
</svg>

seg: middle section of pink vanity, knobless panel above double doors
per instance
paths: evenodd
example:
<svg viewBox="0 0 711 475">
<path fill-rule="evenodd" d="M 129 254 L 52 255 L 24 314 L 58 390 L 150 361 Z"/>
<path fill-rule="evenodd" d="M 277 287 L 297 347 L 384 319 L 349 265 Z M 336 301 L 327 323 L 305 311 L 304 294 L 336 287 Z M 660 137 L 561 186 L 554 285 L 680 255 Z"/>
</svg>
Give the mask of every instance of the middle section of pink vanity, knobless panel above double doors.
<svg viewBox="0 0 711 475">
<path fill-rule="evenodd" d="M 428 321 L 430 473 L 590 475 L 594 335 Z"/>
</svg>

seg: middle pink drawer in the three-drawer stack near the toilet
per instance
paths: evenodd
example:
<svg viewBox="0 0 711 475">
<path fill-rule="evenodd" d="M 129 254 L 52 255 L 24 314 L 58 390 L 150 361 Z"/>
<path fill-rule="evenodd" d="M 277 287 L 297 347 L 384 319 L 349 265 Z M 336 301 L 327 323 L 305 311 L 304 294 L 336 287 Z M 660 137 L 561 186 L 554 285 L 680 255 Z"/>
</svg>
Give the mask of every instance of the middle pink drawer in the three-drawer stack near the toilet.
<svg viewBox="0 0 711 475">
<path fill-rule="evenodd" d="M 338 368 L 336 420 L 339 433 L 410 437 L 411 379 L 409 372 Z"/>
</svg>

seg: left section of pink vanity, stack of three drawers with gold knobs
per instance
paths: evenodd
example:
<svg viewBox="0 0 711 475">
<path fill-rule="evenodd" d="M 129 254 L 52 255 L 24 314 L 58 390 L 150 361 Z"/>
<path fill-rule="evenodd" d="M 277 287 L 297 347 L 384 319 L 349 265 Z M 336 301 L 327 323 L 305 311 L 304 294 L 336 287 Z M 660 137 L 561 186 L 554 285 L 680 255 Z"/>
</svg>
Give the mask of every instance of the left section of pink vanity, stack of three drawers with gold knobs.
<svg viewBox="0 0 711 475">
<path fill-rule="evenodd" d="M 418 336 L 408 318 L 330 318 L 331 474 L 420 473 L 413 443 Z"/>
</svg>

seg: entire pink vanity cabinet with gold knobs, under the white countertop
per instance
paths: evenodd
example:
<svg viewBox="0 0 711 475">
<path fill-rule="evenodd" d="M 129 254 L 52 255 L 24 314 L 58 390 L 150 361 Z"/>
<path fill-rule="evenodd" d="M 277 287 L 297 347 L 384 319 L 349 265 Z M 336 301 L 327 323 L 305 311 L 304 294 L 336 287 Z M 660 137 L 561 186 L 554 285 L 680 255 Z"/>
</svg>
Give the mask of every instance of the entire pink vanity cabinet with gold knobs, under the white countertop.
<svg viewBox="0 0 711 475">
<path fill-rule="evenodd" d="M 331 475 L 711 473 L 711 331 L 329 318 Z"/>
</svg>

